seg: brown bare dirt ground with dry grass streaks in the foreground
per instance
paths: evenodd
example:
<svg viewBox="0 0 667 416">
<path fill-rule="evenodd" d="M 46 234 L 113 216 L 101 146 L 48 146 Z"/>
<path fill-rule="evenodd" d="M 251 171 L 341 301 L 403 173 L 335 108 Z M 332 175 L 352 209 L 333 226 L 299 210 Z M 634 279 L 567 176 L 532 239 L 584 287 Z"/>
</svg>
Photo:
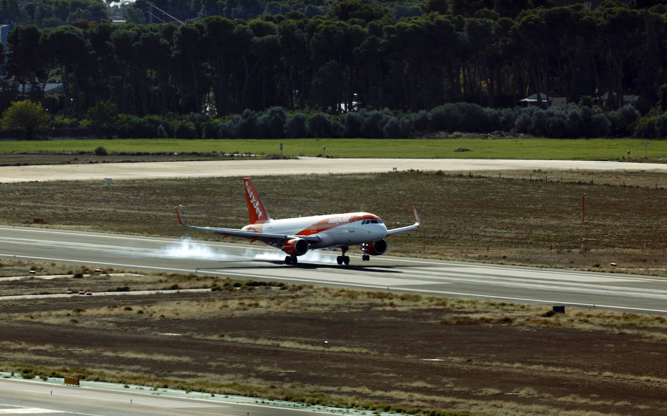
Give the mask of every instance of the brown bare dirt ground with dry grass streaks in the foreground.
<svg viewBox="0 0 667 416">
<path fill-rule="evenodd" d="M 63 291 L 91 279 L 133 289 L 127 277 L 105 275 L 0 286 Z M 152 279 L 157 287 L 187 281 Z M 310 287 L 5 299 L 0 361 L 88 379 L 355 407 L 667 415 L 664 317 L 548 311 Z"/>
</svg>

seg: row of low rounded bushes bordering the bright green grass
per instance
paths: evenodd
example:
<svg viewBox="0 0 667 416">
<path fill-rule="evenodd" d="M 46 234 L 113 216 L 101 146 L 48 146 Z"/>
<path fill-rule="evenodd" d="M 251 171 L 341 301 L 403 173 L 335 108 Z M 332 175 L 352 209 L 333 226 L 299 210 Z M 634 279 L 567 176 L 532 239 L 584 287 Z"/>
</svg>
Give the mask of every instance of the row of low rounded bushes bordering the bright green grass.
<svg viewBox="0 0 667 416">
<path fill-rule="evenodd" d="M 208 114 L 118 114 L 115 105 L 99 101 L 83 119 L 62 114 L 47 117 L 41 104 L 13 102 L 0 121 L 5 138 L 36 137 L 158 137 L 177 139 L 282 139 L 303 137 L 399 139 L 450 137 L 442 132 L 484 133 L 483 138 L 519 137 L 667 137 L 667 111 L 642 116 L 634 105 L 604 112 L 590 105 L 542 109 L 532 106 L 494 109 L 472 103 L 447 103 L 417 113 L 367 110 L 331 114 L 319 111 L 245 109 L 239 115 L 214 118 Z M 491 133 L 489 133 L 491 132 Z M 510 132 L 510 133 L 508 133 Z M 35 133 L 35 135 L 33 135 Z"/>
</svg>

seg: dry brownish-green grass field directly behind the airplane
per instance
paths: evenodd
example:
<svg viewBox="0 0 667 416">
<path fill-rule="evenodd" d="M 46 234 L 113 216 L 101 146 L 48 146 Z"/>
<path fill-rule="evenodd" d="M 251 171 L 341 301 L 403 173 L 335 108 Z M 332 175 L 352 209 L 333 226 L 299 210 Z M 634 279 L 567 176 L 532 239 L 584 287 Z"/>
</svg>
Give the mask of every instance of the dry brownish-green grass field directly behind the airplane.
<svg viewBox="0 0 667 416">
<path fill-rule="evenodd" d="M 616 271 L 664 275 L 667 175 L 607 175 L 531 171 L 501 178 L 406 171 L 253 179 L 273 218 L 361 210 L 398 227 L 412 223 L 416 205 L 422 227 L 388 237 L 394 255 L 600 271 L 617 263 Z M 43 217 L 48 227 L 217 238 L 180 227 L 173 211 L 180 204 L 191 225 L 247 223 L 240 178 L 3 183 L 0 189 L 0 222 L 7 225 Z"/>
</svg>

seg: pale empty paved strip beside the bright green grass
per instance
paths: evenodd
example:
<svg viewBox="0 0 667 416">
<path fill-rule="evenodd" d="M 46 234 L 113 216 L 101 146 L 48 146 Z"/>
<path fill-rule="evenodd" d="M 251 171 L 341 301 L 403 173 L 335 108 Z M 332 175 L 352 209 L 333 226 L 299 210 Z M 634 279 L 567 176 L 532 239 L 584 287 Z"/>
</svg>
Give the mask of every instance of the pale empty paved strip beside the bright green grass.
<svg viewBox="0 0 667 416">
<path fill-rule="evenodd" d="M 522 159 L 323 159 L 87 163 L 81 165 L 0 166 L 0 183 L 85 179 L 258 176 L 305 173 L 368 173 L 416 169 L 484 171 L 506 169 L 581 169 L 584 171 L 667 171 L 667 164 L 615 161 Z"/>
</svg>

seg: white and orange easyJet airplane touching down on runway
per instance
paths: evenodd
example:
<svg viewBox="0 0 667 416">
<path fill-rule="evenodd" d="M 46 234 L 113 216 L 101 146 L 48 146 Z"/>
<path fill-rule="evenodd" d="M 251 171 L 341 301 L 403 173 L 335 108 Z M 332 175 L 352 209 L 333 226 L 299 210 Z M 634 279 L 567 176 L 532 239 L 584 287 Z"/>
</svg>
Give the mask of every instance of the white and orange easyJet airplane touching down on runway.
<svg viewBox="0 0 667 416">
<path fill-rule="evenodd" d="M 222 238 L 233 235 L 248 238 L 251 242 L 261 241 L 284 251 L 287 254 L 285 264 L 294 266 L 298 263 L 297 256 L 311 249 L 327 248 L 341 249 L 343 253 L 336 261 L 339 265 L 348 265 L 350 257 L 345 253 L 354 244 L 360 245 L 364 252 L 362 261 L 369 261 L 370 256 L 382 255 L 387 251 L 385 237 L 416 229 L 421 224 L 415 207 L 412 207 L 415 215 L 413 225 L 389 230 L 380 217 L 366 212 L 271 219 L 249 177 L 243 179 L 243 187 L 250 216 L 249 225 L 241 229 L 186 225 L 181 219 L 182 212 L 179 213 L 179 207 L 176 207 L 179 223 L 187 228 L 212 231 L 222 235 Z"/>
</svg>

